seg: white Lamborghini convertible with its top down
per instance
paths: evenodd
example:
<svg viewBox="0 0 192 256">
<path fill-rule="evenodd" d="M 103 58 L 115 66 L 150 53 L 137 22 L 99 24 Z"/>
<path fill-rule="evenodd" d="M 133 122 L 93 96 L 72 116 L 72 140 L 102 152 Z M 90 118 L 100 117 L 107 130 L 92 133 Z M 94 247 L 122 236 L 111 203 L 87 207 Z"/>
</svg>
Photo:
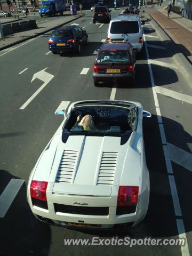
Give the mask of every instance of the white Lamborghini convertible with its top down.
<svg viewBox="0 0 192 256">
<path fill-rule="evenodd" d="M 56 114 L 65 121 L 30 174 L 31 211 L 62 227 L 139 223 L 149 203 L 142 118 L 150 113 L 138 102 L 91 100 Z"/>
</svg>

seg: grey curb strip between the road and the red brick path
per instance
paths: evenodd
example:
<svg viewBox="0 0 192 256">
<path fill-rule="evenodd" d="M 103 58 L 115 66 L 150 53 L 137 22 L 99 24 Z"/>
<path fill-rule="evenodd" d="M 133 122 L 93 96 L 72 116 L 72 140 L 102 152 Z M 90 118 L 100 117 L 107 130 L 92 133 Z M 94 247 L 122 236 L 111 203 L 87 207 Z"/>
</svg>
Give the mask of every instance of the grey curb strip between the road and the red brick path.
<svg viewBox="0 0 192 256">
<path fill-rule="evenodd" d="M 154 20 L 153 16 L 151 14 L 149 14 L 151 19 L 156 23 L 156 25 L 162 29 L 161 32 L 157 31 L 157 33 L 159 34 L 159 37 L 161 37 L 162 41 L 171 41 L 169 42 L 169 44 L 165 44 L 165 48 L 167 50 L 170 51 L 170 53 L 172 53 L 172 58 L 174 60 L 174 62 L 176 63 L 176 65 L 179 65 L 179 69 L 182 71 L 182 73 L 184 74 L 185 79 L 187 80 L 188 84 L 190 86 L 192 86 L 191 84 L 191 63 L 190 61 L 187 59 L 187 57 L 185 57 L 185 55 L 180 51 L 179 46 L 177 46 L 177 44 L 173 41 L 173 39 L 165 32 L 165 30 L 161 27 L 161 25 L 159 25 L 159 23 Z M 173 52 L 173 49 L 177 50 L 177 53 Z"/>
</svg>

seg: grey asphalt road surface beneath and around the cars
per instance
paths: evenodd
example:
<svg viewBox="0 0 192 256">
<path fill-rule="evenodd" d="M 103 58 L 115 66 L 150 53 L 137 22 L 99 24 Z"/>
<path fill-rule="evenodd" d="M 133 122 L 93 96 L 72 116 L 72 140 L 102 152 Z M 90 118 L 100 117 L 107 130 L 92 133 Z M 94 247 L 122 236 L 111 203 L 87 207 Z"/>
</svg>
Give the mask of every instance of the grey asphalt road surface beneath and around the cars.
<svg viewBox="0 0 192 256">
<path fill-rule="evenodd" d="M 11 179 L 24 180 L 15 198 L 0 218 L 1 255 L 174 255 L 191 252 L 191 89 L 179 65 L 173 62 L 161 40 L 161 29 L 149 21 L 143 26 L 146 50 L 137 56 L 136 85 L 103 84 L 94 87 L 92 68 L 94 52 L 107 38 L 108 24 L 93 24 L 91 12 L 76 20 L 87 31 L 89 45 L 80 54 L 49 53 L 50 33 L 36 37 L 10 51 L 0 52 L 1 65 L 1 126 L 0 126 L 0 195 Z M 119 10 L 113 10 L 114 17 Z M 86 68 L 86 74 L 81 74 Z M 149 73 L 149 68 L 150 73 Z M 46 81 L 39 71 L 51 74 Z M 153 84 L 154 81 L 154 84 Z M 151 82 L 153 87 L 151 86 Z M 156 86 L 155 86 L 156 85 Z M 113 91 L 113 93 L 111 93 Z M 24 105 L 32 95 L 34 99 Z M 142 103 L 152 117 L 143 120 L 147 165 L 150 173 L 150 202 L 146 219 L 138 226 L 121 230 L 70 230 L 48 226 L 31 213 L 26 186 L 39 155 L 58 129 L 62 117 L 54 111 L 62 101 L 87 99 L 119 99 Z M 168 153 L 166 153 L 166 150 Z M 165 156 L 170 155 L 165 161 Z M 180 156 L 186 158 L 181 161 Z M 169 167 L 167 169 L 167 166 Z M 134 170 L 133 170 L 134 171 Z M 170 187 L 171 184 L 171 187 Z M 175 187 L 174 187 L 175 185 Z M 175 190 L 176 189 L 176 190 Z M 178 195 L 178 197 L 177 197 Z M 0 197 L 1 202 L 1 197 Z M 1 211 L 0 211 L 1 212 Z M 72 246 L 64 238 L 178 238 L 187 236 L 188 247 L 180 246 Z"/>
</svg>

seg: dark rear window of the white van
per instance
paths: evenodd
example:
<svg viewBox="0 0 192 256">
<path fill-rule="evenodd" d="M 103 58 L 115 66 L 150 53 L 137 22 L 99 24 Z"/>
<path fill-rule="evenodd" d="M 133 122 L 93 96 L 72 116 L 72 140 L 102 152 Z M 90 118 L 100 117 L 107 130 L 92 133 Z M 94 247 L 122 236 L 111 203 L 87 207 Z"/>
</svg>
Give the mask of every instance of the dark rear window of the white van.
<svg viewBox="0 0 192 256">
<path fill-rule="evenodd" d="M 139 33 L 138 21 L 114 21 L 111 22 L 111 34 L 135 34 Z"/>
</svg>

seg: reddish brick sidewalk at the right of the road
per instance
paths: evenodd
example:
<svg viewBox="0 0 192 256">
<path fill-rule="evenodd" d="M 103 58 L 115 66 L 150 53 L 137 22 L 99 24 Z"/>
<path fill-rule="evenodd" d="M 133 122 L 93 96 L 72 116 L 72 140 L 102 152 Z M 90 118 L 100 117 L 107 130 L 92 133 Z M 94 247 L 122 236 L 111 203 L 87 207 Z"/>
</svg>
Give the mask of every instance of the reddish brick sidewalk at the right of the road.
<svg viewBox="0 0 192 256">
<path fill-rule="evenodd" d="M 183 18 L 173 12 L 171 12 L 171 19 L 167 19 L 167 13 L 162 6 L 157 6 L 156 9 L 156 11 L 149 10 L 148 13 L 192 63 L 192 20 Z"/>
</svg>

